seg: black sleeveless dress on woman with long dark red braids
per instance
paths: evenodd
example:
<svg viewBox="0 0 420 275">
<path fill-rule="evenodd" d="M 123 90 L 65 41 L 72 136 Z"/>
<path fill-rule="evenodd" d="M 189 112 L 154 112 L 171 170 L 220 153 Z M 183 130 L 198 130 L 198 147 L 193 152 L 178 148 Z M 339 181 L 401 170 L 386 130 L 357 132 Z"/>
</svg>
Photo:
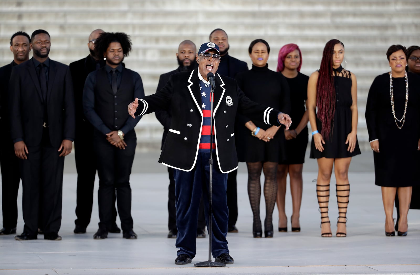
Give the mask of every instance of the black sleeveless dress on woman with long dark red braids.
<svg viewBox="0 0 420 275">
<path fill-rule="evenodd" d="M 343 76 L 337 76 L 342 72 Z M 350 153 L 347 151 L 349 145 L 346 144 L 347 135 L 352 132 L 352 76 L 350 71 L 344 70 L 343 67 L 339 67 L 334 70 L 334 86 L 336 91 L 336 106 L 335 114 L 332 127 L 332 136 L 327 140 L 324 138 L 325 144 L 323 144 L 324 151 L 320 152 L 315 148 L 315 143 L 312 137 L 311 142 L 311 159 L 320 158 L 348 158 L 360 154 L 359 143 L 356 138 L 356 147 L 354 151 Z M 322 123 L 316 119 L 317 130 L 321 132 Z"/>
</svg>

